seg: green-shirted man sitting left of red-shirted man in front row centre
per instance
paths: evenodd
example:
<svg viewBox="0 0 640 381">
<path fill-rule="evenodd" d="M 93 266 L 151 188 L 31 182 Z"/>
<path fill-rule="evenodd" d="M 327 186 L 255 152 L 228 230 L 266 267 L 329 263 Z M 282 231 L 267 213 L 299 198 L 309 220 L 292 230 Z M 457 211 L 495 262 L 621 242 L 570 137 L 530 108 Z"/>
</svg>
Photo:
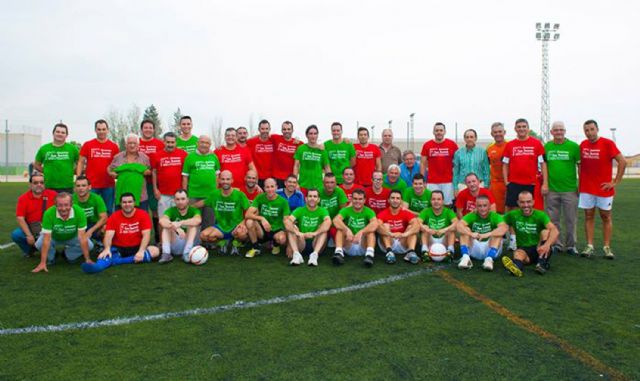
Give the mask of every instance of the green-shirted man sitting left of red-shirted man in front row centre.
<svg viewBox="0 0 640 381">
<path fill-rule="evenodd" d="M 351 194 L 351 206 L 342 209 L 333 219 L 337 229 L 336 251 L 333 255 L 335 265 L 344 264 L 346 253 L 348 256 L 364 255 L 364 265 L 373 266 L 378 219 L 375 212 L 364 205 L 365 197 L 362 189 L 354 190 Z"/>
</svg>

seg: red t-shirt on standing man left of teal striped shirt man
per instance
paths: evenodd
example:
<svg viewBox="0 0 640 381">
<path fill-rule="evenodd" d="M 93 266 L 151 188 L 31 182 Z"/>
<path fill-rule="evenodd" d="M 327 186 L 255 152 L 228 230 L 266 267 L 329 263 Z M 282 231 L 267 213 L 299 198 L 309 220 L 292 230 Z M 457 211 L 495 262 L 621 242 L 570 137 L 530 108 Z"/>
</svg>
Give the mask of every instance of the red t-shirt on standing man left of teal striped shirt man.
<svg viewBox="0 0 640 381">
<path fill-rule="evenodd" d="M 427 183 L 446 184 L 453 182 L 453 155 L 458 145 L 451 139 L 436 143 L 431 139 L 422 146 L 422 157 L 427 158 Z"/>
</svg>

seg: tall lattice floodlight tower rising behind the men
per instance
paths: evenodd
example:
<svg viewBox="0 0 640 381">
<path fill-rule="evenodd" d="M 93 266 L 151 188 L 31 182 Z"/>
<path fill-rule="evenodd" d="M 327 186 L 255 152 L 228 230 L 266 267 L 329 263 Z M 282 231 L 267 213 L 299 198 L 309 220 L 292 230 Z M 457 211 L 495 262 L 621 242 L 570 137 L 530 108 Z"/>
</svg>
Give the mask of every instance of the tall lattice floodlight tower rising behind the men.
<svg viewBox="0 0 640 381">
<path fill-rule="evenodd" d="M 540 135 L 549 141 L 551 134 L 551 104 L 549 100 L 549 41 L 560 38 L 560 24 L 536 23 L 536 39 L 542 41 L 542 99 L 540 107 Z"/>
</svg>

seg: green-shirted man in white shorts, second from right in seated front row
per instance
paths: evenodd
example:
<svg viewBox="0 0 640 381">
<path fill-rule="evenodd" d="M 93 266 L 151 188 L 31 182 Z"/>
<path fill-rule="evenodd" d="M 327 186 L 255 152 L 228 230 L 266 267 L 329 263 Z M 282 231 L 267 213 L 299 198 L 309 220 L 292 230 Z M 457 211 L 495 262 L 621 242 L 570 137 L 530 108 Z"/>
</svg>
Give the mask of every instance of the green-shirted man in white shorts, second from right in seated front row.
<svg viewBox="0 0 640 381">
<path fill-rule="evenodd" d="M 491 210 L 489 197 L 478 196 L 476 209 L 458 222 L 462 253 L 458 268 L 472 268 L 473 258 L 484 261 L 483 269 L 493 271 L 493 262 L 502 251 L 502 237 L 508 230 L 502 216 Z"/>
</svg>

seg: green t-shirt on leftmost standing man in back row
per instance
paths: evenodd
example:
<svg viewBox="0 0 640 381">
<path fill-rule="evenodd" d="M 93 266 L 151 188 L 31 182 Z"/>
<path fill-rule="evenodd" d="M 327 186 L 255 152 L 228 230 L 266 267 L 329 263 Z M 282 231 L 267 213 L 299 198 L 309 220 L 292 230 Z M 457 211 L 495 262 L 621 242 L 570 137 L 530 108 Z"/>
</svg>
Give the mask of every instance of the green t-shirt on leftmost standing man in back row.
<svg viewBox="0 0 640 381">
<path fill-rule="evenodd" d="M 80 152 L 71 143 L 56 147 L 47 143 L 36 153 L 36 161 L 42 163 L 44 185 L 47 188 L 73 188 L 74 167 Z"/>
</svg>

